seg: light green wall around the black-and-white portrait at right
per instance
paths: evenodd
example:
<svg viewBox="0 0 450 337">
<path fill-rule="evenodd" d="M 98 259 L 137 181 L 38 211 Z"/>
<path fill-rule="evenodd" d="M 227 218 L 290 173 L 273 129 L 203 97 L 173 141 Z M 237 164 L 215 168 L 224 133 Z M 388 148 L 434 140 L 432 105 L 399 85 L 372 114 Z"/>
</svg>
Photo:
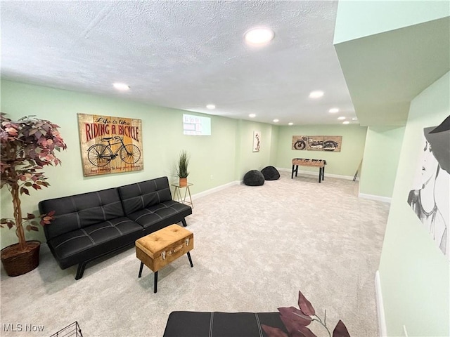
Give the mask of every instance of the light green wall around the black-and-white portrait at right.
<svg viewBox="0 0 450 337">
<path fill-rule="evenodd" d="M 449 257 L 406 202 L 423 128 L 450 113 L 449 83 L 447 73 L 411 102 L 379 268 L 388 336 L 404 336 L 404 325 L 409 336 L 450 336 Z"/>
</svg>

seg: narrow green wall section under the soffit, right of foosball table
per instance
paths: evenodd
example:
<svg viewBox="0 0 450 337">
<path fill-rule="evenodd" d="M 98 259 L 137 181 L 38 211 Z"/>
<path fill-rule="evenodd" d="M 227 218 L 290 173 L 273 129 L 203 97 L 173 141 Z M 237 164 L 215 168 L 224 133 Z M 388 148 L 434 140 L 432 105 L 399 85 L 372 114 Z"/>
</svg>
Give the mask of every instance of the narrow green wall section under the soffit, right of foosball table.
<svg viewBox="0 0 450 337">
<path fill-rule="evenodd" d="M 392 197 L 404 127 L 370 126 L 359 180 L 359 192 Z"/>
</svg>

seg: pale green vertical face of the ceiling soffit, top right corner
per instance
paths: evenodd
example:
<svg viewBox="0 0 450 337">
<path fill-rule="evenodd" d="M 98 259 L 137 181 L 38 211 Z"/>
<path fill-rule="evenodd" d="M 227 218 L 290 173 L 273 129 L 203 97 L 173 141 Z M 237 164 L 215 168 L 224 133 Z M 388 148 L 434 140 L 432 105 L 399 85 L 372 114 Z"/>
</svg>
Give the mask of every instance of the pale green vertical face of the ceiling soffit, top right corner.
<svg viewBox="0 0 450 337">
<path fill-rule="evenodd" d="M 333 43 L 339 44 L 448 15 L 449 1 L 340 0 Z"/>
</svg>

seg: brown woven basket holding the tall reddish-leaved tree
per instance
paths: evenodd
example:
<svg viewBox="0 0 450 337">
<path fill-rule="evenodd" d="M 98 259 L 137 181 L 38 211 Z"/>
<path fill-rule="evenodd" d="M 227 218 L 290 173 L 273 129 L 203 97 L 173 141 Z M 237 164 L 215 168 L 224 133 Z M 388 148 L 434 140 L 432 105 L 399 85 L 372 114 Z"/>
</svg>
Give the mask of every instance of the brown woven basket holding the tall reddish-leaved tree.
<svg viewBox="0 0 450 337">
<path fill-rule="evenodd" d="M 19 251 L 19 244 L 1 249 L 1 263 L 8 276 L 19 276 L 31 272 L 39 265 L 41 242 L 27 241 L 27 250 Z"/>
</svg>

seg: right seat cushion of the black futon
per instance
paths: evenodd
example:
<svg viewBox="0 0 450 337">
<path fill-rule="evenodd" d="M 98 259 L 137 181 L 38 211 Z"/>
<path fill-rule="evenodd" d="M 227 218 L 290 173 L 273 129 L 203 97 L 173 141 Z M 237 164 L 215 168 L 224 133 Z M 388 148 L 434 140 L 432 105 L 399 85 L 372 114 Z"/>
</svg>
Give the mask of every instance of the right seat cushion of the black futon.
<svg viewBox="0 0 450 337">
<path fill-rule="evenodd" d="M 165 227 L 166 225 L 171 225 L 172 223 L 178 223 L 189 214 L 192 214 L 191 206 L 181 204 L 174 200 L 169 200 L 130 213 L 128 214 L 128 218 L 136 221 L 136 223 L 139 223 L 139 225 L 144 228 L 148 228 L 155 223 Z"/>
</svg>

